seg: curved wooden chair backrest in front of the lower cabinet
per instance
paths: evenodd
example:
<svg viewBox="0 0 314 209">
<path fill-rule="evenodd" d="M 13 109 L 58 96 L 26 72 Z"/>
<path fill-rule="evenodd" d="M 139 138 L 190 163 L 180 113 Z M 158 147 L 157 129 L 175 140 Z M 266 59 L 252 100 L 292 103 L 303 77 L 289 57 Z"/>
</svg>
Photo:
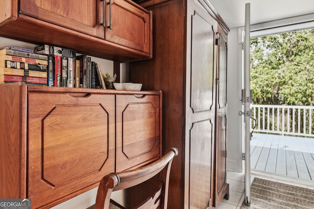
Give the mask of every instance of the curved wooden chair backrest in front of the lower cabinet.
<svg viewBox="0 0 314 209">
<path fill-rule="evenodd" d="M 155 192 L 153 197 L 149 197 L 144 203 L 135 208 L 166 209 L 168 202 L 168 186 L 171 163 L 173 158 L 177 155 L 178 149 L 171 148 L 164 156 L 153 163 L 133 170 L 105 175 L 98 187 L 95 209 L 109 208 L 110 195 L 112 191 L 126 189 L 131 186 L 138 185 L 155 177 L 156 175 L 159 175 L 160 180 L 158 191 Z"/>
</svg>

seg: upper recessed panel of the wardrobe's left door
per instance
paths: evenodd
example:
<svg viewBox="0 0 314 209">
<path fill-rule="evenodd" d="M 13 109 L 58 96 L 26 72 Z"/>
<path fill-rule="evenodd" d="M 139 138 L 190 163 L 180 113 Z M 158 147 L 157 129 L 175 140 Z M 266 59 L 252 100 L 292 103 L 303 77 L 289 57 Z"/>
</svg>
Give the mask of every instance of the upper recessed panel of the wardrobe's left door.
<svg viewBox="0 0 314 209">
<path fill-rule="evenodd" d="M 208 111 L 213 104 L 214 32 L 198 13 L 192 17 L 191 108 Z"/>
</svg>

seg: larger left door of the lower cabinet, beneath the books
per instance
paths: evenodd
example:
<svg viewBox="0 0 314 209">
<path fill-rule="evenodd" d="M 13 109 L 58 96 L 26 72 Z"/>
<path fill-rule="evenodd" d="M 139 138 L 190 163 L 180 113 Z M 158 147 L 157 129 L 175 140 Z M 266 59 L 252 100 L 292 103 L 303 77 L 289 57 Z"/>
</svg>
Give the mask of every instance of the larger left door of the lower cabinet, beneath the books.
<svg viewBox="0 0 314 209">
<path fill-rule="evenodd" d="M 114 94 L 28 93 L 27 185 L 34 208 L 74 197 L 114 172 L 114 108 Z"/>
</svg>

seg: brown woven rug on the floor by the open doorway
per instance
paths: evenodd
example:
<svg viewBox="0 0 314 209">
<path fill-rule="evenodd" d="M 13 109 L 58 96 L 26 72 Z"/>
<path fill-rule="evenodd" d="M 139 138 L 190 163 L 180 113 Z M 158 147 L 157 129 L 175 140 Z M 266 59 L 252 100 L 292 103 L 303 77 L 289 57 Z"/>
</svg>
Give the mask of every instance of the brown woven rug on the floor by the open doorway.
<svg viewBox="0 0 314 209">
<path fill-rule="evenodd" d="M 314 209 L 314 190 L 254 178 L 251 205 L 241 209 Z"/>
</svg>

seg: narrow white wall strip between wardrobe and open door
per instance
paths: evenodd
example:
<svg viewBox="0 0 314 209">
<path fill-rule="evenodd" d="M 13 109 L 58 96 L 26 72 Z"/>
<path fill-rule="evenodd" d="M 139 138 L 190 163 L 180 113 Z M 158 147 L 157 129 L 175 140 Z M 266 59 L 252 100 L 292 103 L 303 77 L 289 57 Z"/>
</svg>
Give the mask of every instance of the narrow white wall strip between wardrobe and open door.
<svg viewBox="0 0 314 209">
<path fill-rule="evenodd" d="M 242 172 L 242 139 L 241 139 L 241 79 L 239 63 L 238 29 L 228 34 L 227 57 L 227 169 Z"/>
</svg>

